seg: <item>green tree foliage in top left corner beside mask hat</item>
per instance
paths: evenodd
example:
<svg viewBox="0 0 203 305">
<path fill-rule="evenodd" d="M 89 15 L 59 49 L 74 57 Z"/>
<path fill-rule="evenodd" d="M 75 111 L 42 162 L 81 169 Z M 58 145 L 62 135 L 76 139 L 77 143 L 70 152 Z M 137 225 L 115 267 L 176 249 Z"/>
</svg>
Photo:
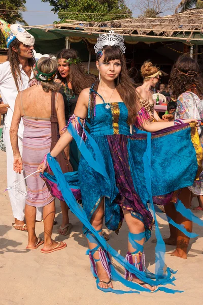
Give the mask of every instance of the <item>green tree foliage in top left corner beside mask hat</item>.
<svg viewBox="0 0 203 305">
<path fill-rule="evenodd" d="M 27 25 L 26 21 L 23 20 L 22 13 L 26 11 L 25 8 L 26 0 L 0 0 L 0 18 L 8 23 L 22 23 Z M 8 11 L 14 10 L 14 11 Z M 0 32 L 0 48 L 6 48 L 5 39 Z"/>
</svg>

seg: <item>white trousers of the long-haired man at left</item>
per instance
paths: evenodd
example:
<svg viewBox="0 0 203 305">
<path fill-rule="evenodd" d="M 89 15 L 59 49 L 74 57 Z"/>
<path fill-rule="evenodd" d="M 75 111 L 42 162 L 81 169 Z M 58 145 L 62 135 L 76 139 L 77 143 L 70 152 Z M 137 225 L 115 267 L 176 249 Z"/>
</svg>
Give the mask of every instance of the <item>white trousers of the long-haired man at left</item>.
<svg viewBox="0 0 203 305">
<path fill-rule="evenodd" d="M 7 184 L 8 187 L 13 186 L 20 180 L 22 180 L 25 177 L 24 170 L 21 172 L 21 174 L 16 173 L 13 170 L 13 150 L 11 146 L 10 141 L 10 134 L 9 134 L 10 127 L 7 127 L 7 125 L 4 127 L 4 142 L 6 145 L 6 154 L 7 154 Z M 20 150 L 20 155 L 22 156 L 22 139 L 18 137 L 18 146 Z M 26 196 L 22 194 L 26 193 L 26 181 L 23 180 L 20 182 L 16 189 L 8 191 L 9 192 L 9 198 L 11 201 L 11 207 L 13 210 L 13 216 L 14 218 L 23 221 L 25 219 L 25 201 Z M 37 207 L 37 216 L 36 220 L 41 221 L 42 220 L 42 207 Z"/>
</svg>

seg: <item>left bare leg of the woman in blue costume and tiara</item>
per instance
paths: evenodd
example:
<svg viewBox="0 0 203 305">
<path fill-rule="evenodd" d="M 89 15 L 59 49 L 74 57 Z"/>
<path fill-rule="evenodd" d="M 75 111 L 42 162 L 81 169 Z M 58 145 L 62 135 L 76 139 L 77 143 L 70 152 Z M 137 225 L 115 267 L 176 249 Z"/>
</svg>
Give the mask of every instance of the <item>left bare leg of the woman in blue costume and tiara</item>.
<svg viewBox="0 0 203 305">
<path fill-rule="evenodd" d="M 90 221 L 96 231 L 99 231 L 102 229 L 103 219 L 104 219 L 104 198 L 101 199 L 101 202 L 99 203 L 97 209 L 95 210 L 94 214 L 92 215 L 92 218 Z M 101 235 L 101 232 L 99 234 Z M 89 240 L 88 240 L 88 244 L 89 244 L 90 250 L 94 249 L 97 246 L 96 243 L 92 243 Z M 92 255 L 95 260 L 99 259 L 98 251 L 92 253 Z M 101 265 L 100 261 L 96 262 L 96 269 L 97 269 L 99 280 L 104 281 L 104 282 L 109 282 L 109 277 L 107 275 L 107 272 Z M 108 288 L 108 287 L 113 288 L 112 282 L 108 285 L 105 283 L 99 282 L 98 285 L 101 288 Z"/>
</svg>

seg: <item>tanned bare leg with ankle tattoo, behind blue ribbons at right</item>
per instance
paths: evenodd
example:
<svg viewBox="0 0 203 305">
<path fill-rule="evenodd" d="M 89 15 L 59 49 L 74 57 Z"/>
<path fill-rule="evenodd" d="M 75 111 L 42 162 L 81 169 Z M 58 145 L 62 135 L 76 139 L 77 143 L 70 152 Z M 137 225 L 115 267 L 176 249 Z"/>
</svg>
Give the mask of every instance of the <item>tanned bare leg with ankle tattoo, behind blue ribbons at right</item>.
<svg viewBox="0 0 203 305">
<path fill-rule="evenodd" d="M 182 189 L 179 195 L 179 199 L 182 201 L 186 208 L 190 208 L 191 191 L 188 188 Z M 192 232 L 192 222 L 183 217 L 179 212 L 177 212 L 176 223 L 184 225 L 185 229 L 188 232 Z M 190 238 L 188 236 L 186 236 L 183 232 L 177 229 L 177 247 L 176 250 L 171 253 L 171 255 L 186 259 L 189 240 Z"/>
</svg>

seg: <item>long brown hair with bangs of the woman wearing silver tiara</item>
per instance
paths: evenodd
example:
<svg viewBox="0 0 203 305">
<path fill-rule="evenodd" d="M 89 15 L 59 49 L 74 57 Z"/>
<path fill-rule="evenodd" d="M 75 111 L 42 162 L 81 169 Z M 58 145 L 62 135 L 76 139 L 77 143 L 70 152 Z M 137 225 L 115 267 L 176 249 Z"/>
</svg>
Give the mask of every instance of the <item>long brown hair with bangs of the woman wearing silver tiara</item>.
<svg viewBox="0 0 203 305">
<path fill-rule="evenodd" d="M 129 125 L 134 124 L 136 121 L 137 112 L 140 110 L 140 102 L 136 90 L 132 85 L 131 79 L 128 75 L 125 57 L 121 52 L 120 48 L 117 46 L 105 46 L 103 49 L 104 53 L 104 60 L 103 63 L 109 62 L 110 60 L 119 59 L 121 62 L 121 72 L 119 74 L 119 86 L 117 87 L 118 93 L 122 98 L 123 102 L 125 103 L 127 110 L 128 110 L 128 120 L 127 123 Z M 96 60 L 99 60 L 100 55 L 97 55 Z M 118 79 L 115 80 L 115 86 L 117 86 Z M 96 80 L 92 89 L 97 91 L 99 81 Z M 93 113 L 93 99 L 94 95 L 91 95 L 91 102 L 90 102 L 90 111 Z"/>
</svg>

